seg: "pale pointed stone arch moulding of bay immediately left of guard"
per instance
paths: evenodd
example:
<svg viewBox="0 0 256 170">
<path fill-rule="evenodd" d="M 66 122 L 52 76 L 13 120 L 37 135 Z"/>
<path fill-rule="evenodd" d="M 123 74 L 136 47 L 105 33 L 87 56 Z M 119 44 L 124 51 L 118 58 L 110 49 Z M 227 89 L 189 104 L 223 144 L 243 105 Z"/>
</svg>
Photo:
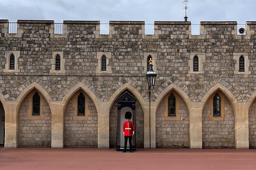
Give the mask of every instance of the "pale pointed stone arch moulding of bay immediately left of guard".
<svg viewBox="0 0 256 170">
<path fill-rule="evenodd" d="M 98 112 L 100 104 L 99 104 L 99 100 L 98 100 L 97 96 L 94 93 L 92 93 L 92 91 L 86 85 L 82 84 L 81 82 L 78 83 L 77 85 L 73 86 L 72 89 L 70 89 L 68 91 L 68 93 L 66 93 L 65 97 L 62 100 L 62 103 L 64 104 L 63 109 L 64 110 L 66 109 L 66 106 L 67 106 L 68 102 L 70 101 L 70 99 L 80 89 L 83 90 L 91 98 L 91 100 L 93 101 L 93 103 L 96 107 L 96 110 Z"/>
</svg>

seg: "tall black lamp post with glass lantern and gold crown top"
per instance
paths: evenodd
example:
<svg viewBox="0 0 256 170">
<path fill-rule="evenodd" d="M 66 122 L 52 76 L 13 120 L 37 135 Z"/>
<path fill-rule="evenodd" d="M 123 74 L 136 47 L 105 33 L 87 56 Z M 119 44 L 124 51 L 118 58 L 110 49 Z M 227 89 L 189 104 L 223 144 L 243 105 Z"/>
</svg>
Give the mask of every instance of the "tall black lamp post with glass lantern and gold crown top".
<svg viewBox="0 0 256 170">
<path fill-rule="evenodd" d="M 149 60 L 149 70 L 146 73 L 146 80 L 148 85 L 148 97 L 149 97 L 149 148 L 151 148 L 151 119 L 150 119 L 150 88 L 155 85 L 156 73 L 153 70 L 153 61 Z"/>
</svg>

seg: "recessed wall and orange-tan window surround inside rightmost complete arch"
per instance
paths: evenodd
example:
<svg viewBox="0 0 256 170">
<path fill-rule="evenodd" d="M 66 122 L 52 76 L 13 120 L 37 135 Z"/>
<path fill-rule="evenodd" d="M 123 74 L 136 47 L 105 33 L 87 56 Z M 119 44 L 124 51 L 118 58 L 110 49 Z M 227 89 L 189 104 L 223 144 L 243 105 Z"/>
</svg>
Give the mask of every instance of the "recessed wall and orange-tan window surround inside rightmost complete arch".
<svg viewBox="0 0 256 170">
<path fill-rule="evenodd" d="M 213 116 L 213 97 L 220 97 L 220 116 Z M 202 147 L 235 147 L 235 114 L 227 96 L 217 90 L 208 98 L 202 111 Z"/>
</svg>

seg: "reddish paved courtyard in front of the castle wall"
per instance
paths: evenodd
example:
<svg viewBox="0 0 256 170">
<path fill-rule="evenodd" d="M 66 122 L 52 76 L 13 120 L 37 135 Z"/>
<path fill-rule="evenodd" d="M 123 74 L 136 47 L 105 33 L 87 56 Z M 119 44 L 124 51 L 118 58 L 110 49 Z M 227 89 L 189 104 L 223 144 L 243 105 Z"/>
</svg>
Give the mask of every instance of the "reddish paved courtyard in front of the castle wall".
<svg viewBox="0 0 256 170">
<path fill-rule="evenodd" d="M 255 149 L 0 149 L 0 170 L 256 170 L 255 160 Z"/>
</svg>

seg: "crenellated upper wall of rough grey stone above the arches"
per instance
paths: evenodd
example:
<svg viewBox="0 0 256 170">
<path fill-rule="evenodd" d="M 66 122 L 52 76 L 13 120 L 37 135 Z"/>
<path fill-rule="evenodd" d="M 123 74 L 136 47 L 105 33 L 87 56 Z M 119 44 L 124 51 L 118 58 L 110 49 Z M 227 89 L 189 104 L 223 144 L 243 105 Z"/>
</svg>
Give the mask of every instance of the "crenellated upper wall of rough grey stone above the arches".
<svg viewBox="0 0 256 170">
<path fill-rule="evenodd" d="M 110 34 L 101 35 L 99 21 L 64 21 L 64 34 L 55 35 L 54 21 L 18 20 L 20 36 L 6 33 L 7 22 L 0 20 L 0 92 L 7 101 L 15 101 L 27 85 L 37 81 L 53 101 L 61 101 L 82 82 L 101 102 L 108 102 L 117 86 L 138 85 L 147 102 L 145 52 L 156 53 L 153 102 L 172 83 L 192 102 L 200 102 L 217 83 L 229 89 L 238 102 L 247 102 L 256 90 L 256 22 L 247 22 L 247 35 L 237 35 L 237 22 L 201 22 L 201 35 L 191 35 L 190 22 L 156 21 L 155 34 L 146 35 L 143 21 L 110 21 Z M 20 51 L 19 72 L 2 72 L 5 51 Z M 55 51 L 63 51 L 65 73 L 50 73 Z M 111 53 L 111 74 L 96 75 L 97 52 Z M 203 73 L 191 74 L 190 53 L 197 52 L 205 53 Z M 248 54 L 249 75 L 234 74 L 233 53 Z"/>
</svg>

